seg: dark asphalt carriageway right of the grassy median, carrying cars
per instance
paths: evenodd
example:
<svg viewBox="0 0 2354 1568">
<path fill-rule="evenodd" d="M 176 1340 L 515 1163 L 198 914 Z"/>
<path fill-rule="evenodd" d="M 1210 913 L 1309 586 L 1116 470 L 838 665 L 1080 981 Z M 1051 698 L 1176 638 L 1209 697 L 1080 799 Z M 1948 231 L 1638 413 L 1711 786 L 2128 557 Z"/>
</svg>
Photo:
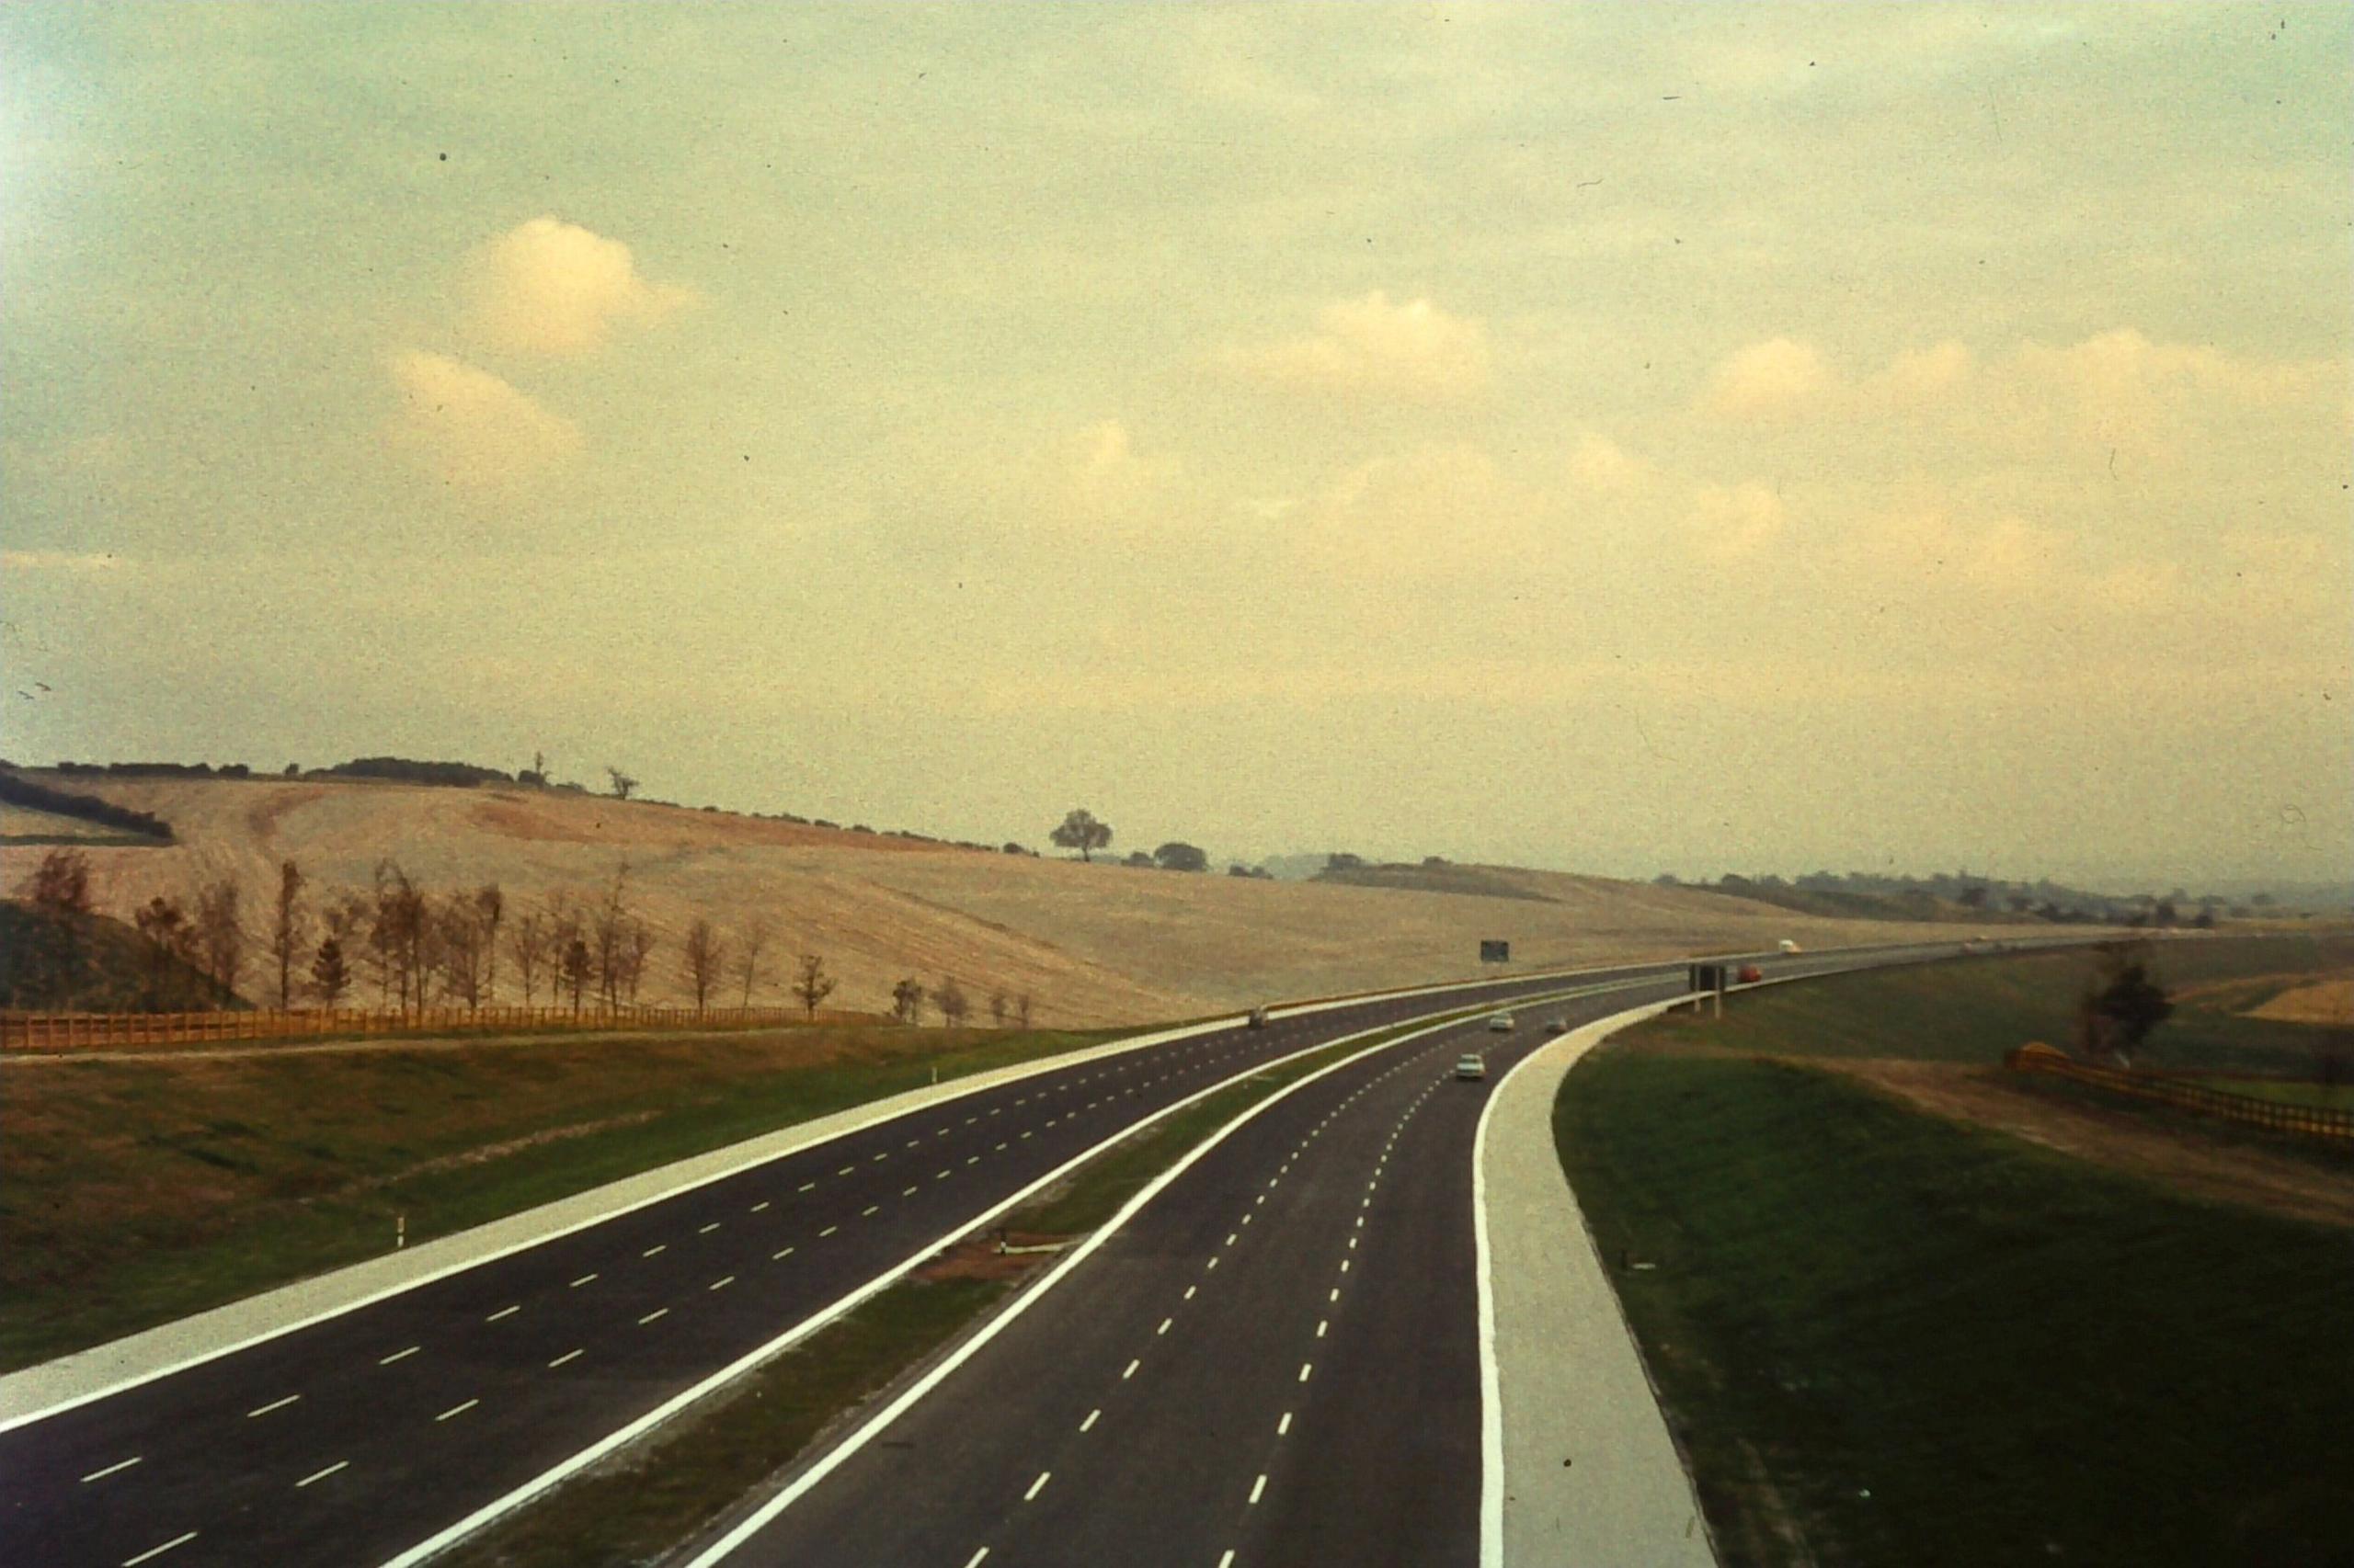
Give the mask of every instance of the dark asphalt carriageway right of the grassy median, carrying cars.
<svg viewBox="0 0 2354 1568">
<path fill-rule="evenodd" d="M 1511 1034 L 1474 1019 L 1299 1085 L 697 1568 L 1478 1563 L 1485 1083 L 1551 1019 L 1681 991 L 1544 1003 Z M 1452 1076 L 1464 1052 L 1485 1083 Z"/>
</svg>

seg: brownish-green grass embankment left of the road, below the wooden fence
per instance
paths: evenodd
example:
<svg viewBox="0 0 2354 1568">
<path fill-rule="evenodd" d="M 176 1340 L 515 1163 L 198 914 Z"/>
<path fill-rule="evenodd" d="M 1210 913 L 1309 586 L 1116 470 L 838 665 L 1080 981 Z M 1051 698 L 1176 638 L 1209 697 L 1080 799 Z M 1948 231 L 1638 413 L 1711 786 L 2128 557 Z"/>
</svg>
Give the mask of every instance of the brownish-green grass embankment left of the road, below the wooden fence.
<svg viewBox="0 0 2354 1568">
<path fill-rule="evenodd" d="M 791 1029 L 0 1067 L 0 1366 L 1109 1034 Z"/>
</svg>

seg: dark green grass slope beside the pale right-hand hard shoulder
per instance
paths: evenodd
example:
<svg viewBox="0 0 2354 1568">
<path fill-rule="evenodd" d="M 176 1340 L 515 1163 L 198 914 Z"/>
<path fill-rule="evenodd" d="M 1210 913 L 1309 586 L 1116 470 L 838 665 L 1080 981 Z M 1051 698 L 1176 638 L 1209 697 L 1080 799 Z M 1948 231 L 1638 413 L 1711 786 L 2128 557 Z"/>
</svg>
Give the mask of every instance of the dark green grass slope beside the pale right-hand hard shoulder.
<svg viewBox="0 0 2354 1568">
<path fill-rule="evenodd" d="M 1728 1563 L 2354 1561 L 2354 1234 L 1775 1062 L 1554 1128 Z"/>
</svg>

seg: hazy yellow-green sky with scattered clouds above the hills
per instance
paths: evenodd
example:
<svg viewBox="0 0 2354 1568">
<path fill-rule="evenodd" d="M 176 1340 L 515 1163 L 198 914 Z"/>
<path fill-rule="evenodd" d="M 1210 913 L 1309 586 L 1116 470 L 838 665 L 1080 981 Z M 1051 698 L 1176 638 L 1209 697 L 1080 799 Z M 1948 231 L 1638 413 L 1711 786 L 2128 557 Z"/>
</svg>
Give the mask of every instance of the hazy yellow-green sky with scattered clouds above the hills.
<svg viewBox="0 0 2354 1568">
<path fill-rule="evenodd" d="M 2349 7 L 0 12 L 0 751 L 2354 873 Z"/>
</svg>

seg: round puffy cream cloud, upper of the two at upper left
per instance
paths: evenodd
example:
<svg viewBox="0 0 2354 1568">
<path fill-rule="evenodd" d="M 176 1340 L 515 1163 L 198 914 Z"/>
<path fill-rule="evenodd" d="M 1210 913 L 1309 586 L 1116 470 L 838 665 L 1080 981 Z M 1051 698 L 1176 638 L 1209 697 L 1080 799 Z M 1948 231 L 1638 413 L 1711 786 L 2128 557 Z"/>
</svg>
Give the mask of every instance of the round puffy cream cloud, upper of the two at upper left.
<svg viewBox="0 0 2354 1568">
<path fill-rule="evenodd" d="M 629 245 L 537 217 L 473 252 L 466 327 L 506 353 L 581 356 L 619 325 L 661 320 L 692 294 L 647 283 Z"/>
</svg>

